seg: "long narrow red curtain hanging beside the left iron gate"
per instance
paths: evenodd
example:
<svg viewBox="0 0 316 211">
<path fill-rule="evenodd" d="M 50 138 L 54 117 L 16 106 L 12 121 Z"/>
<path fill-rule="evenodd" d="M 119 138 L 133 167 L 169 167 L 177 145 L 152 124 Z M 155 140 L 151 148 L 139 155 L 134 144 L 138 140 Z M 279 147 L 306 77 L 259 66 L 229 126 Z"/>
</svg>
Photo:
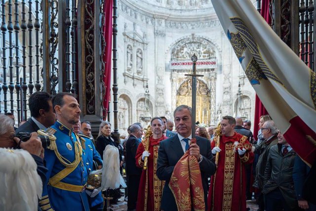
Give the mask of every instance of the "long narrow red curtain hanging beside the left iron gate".
<svg viewBox="0 0 316 211">
<path fill-rule="evenodd" d="M 112 14 L 113 14 L 113 0 L 105 0 L 105 5 L 103 8 L 104 11 L 104 26 L 103 26 L 103 34 L 105 37 L 106 47 L 105 54 L 103 56 L 103 62 L 105 64 L 105 71 L 103 75 L 103 82 L 105 84 L 105 97 L 103 101 L 103 106 L 105 111 L 103 112 L 103 120 L 106 119 L 108 109 L 109 109 L 109 101 L 111 96 L 111 71 L 112 71 Z"/>
</svg>

